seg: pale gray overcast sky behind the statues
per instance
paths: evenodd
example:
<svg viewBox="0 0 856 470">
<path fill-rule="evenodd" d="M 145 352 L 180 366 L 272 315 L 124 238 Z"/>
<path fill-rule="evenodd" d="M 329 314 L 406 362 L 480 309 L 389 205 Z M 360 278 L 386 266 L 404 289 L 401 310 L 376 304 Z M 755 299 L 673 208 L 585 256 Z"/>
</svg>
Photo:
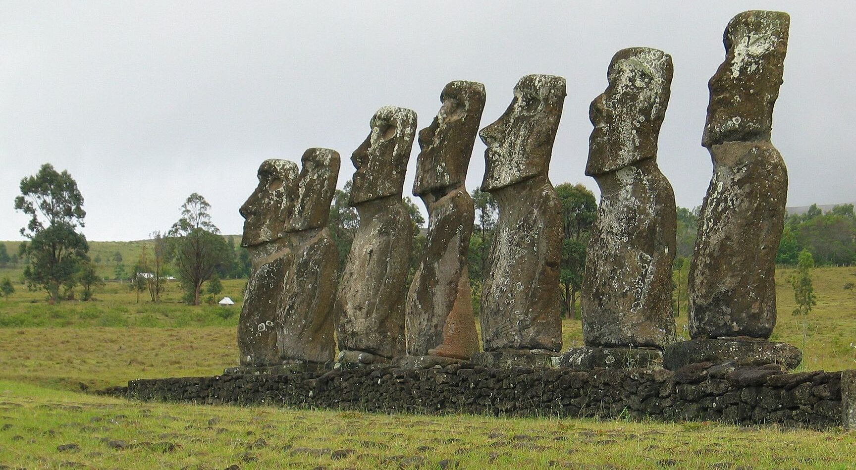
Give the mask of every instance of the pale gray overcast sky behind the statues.
<svg viewBox="0 0 856 470">
<path fill-rule="evenodd" d="M 21 178 L 50 162 L 86 199 L 89 240 L 139 240 L 178 219 L 193 192 L 223 233 L 265 158 L 307 147 L 350 155 L 378 107 L 413 109 L 419 128 L 450 80 L 487 89 L 482 127 L 525 74 L 568 80 L 550 179 L 582 182 L 588 107 L 625 47 L 672 55 L 659 164 L 678 205 L 700 205 L 711 164 L 700 146 L 722 30 L 745 9 L 791 15 L 773 142 L 788 205 L 856 201 L 856 3 L 717 2 L 9 2 L 0 0 L 0 240 L 19 240 Z M 410 193 L 419 146 L 413 146 Z M 484 145 L 467 187 L 479 185 Z M 420 204 L 421 205 L 421 204 Z"/>
</svg>

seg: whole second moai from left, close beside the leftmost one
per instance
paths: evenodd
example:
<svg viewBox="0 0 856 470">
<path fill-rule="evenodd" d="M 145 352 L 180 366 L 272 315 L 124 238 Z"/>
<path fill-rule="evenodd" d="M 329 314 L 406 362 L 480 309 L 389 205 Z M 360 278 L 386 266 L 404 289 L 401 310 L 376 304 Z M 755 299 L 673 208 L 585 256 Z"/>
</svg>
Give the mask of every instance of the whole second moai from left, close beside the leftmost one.
<svg viewBox="0 0 856 470">
<path fill-rule="evenodd" d="M 294 258 L 277 307 L 277 346 L 283 362 L 331 363 L 336 349 L 333 306 L 339 255 L 326 225 L 339 176 L 339 154 L 309 149 L 301 162 L 294 214 L 286 224 Z"/>
</svg>

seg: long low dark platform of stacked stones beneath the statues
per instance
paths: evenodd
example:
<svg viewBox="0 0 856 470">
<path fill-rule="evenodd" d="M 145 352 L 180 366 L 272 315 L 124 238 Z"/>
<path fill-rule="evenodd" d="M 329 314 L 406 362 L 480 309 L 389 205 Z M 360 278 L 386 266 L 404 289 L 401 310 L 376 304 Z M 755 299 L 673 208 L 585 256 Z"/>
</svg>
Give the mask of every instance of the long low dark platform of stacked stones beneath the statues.
<svg viewBox="0 0 856 470">
<path fill-rule="evenodd" d="M 856 427 L 856 371 L 693 364 L 665 369 L 360 367 L 134 380 L 113 394 L 140 400 L 403 413 L 629 416 L 665 421 Z"/>
</svg>

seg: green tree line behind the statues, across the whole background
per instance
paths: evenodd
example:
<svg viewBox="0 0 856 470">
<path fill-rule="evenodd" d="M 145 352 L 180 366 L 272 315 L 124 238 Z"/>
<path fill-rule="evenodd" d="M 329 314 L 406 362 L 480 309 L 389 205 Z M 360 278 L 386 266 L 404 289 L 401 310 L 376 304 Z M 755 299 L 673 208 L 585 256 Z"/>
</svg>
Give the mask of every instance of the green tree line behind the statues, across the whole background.
<svg viewBox="0 0 856 470">
<path fill-rule="evenodd" d="M 351 182 L 336 189 L 330 205 L 330 231 L 344 265 L 360 217 L 348 205 Z M 562 314 L 577 318 L 578 299 L 586 265 L 586 248 L 591 227 L 597 217 L 597 200 L 582 184 L 556 185 L 562 205 L 562 259 L 560 293 Z M 490 193 L 478 188 L 471 193 L 475 205 L 475 224 L 470 238 L 469 275 L 473 294 L 473 310 L 478 312 L 481 286 L 488 270 L 488 255 L 498 216 L 496 202 Z M 425 218 L 413 200 L 405 197 L 413 222 L 413 254 L 409 275 L 418 267 L 419 253 L 425 247 Z M 51 301 L 74 298 L 77 287 L 82 288 L 82 300 L 92 299 L 95 288 L 103 284 L 96 273 L 100 263 L 88 256 L 86 237 L 79 232 L 84 227 L 86 211 L 83 196 L 67 171 L 57 172 L 44 164 L 35 176 L 21 180 L 21 195 L 15 198 L 15 209 L 29 215 L 21 235 L 18 253 L 8 253 L 0 243 L 0 267 L 25 264 L 23 277 L 29 289 L 44 289 Z M 131 289 L 138 300 L 146 293 L 154 302 L 160 301 L 166 281 L 175 277 L 181 284 L 183 298 L 188 304 L 199 305 L 203 294 L 218 294 L 221 278 L 247 278 L 250 274 L 250 253 L 236 246 L 232 236 L 223 237 L 211 221 L 211 205 L 199 193 L 192 193 L 181 205 L 181 217 L 168 230 L 152 232 L 151 243 L 144 245 L 130 273 Z M 698 212 L 677 208 L 677 253 L 673 271 L 675 312 L 686 310 L 687 275 L 693 256 Z M 811 253 L 817 265 L 850 265 L 856 257 L 856 216 L 853 205 L 836 205 L 823 213 L 811 205 L 805 214 L 790 215 L 785 220 L 782 243 L 776 262 L 796 265 L 803 251 Z M 117 278 L 125 276 L 122 254 L 108 256 L 116 262 Z M 9 295 L 13 289 L 8 280 L 0 281 L 0 294 Z M 6 284 L 9 284 L 8 286 Z M 409 283 L 408 283 L 409 285 Z"/>
</svg>

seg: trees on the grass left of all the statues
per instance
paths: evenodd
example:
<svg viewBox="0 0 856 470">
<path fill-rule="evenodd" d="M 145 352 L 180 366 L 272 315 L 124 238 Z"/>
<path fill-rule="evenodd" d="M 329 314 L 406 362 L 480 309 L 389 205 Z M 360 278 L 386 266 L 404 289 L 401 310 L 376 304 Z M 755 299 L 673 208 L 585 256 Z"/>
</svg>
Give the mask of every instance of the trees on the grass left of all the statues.
<svg viewBox="0 0 856 470">
<path fill-rule="evenodd" d="M 21 228 L 27 238 L 19 246 L 15 259 L 0 244 L 0 263 L 25 264 L 23 280 L 28 289 L 42 289 L 51 302 L 74 299 L 75 289 L 82 288 L 81 300 L 92 300 L 94 289 L 104 284 L 96 271 L 96 260 L 89 257 L 89 243 L 80 233 L 85 227 L 86 211 L 77 182 L 63 170 L 44 164 L 34 176 L 21 180 L 21 195 L 15 198 L 15 209 L 30 220 Z M 159 301 L 165 282 L 171 274 L 181 283 L 184 300 L 199 305 L 203 285 L 207 292 L 222 289 L 220 277 L 247 277 L 249 253 L 235 248 L 235 241 L 223 238 L 211 222 L 211 205 L 199 193 L 192 193 L 181 205 L 181 217 L 165 231 L 152 233 L 151 253 L 144 246 L 131 275 L 131 289 L 148 291 L 152 301 Z M 122 254 L 116 261 L 116 276 L 124 272 Z M 0 281 L 0 293 L 9 295 L 14 287 L 9 279 Z"/>
</svg>

